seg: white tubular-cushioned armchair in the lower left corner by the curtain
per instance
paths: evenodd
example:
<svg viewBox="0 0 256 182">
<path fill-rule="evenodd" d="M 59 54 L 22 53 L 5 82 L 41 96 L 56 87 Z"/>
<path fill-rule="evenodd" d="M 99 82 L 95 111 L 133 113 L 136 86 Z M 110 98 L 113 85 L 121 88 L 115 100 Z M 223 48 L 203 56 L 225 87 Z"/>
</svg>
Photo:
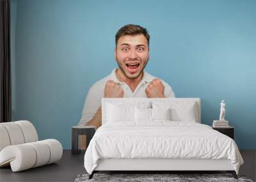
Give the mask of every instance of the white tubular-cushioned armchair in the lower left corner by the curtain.
<svg viewBox="0 0 256 182">
<path fill-rule="evenodd" d="M 29 121 L 0 123 L 0 167 L 11 165 L 13 172 L 56 162 L 61 159 L 58 140 L 38 141 Z"/>
</svg>

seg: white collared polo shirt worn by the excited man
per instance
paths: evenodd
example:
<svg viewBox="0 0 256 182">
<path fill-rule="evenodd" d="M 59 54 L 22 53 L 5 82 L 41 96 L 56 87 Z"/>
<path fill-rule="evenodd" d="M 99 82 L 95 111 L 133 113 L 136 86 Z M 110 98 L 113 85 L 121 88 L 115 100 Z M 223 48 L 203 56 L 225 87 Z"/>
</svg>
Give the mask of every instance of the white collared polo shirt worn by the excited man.
<svg viewBox="0 0 256 182">
<path fill-rule="evenodd" d="M 147 88 L 149 82 L 151 82 L 153 79 L 157 79 L 157 77 L 154 77 L 145 72 L 145 70 L 143 70 L 143 78 L 141 79 L 140 83 L 132 93 L 131 88 L 125 82 L 120 82 L 117 79 L 116 69 L 117 68 L 115 68 L 110 75 L 97 81 L 95 84 L 93 84 L 92 87 L 90 87 L 88 95 L 84 102 L 82 117 L 77 125 L 84 125 L 93 118 L 93 116 L 101 106 L 101 99 L 104 98 L 104 88 L 108 80 L 113 80 L 114 82 L 120 83 L 120 86 L 124 91 L 124 98 L 147 98 L 145 89 Z M 169 98 L 175 98 L 175 95 L 172 91 L 172 87 L 170 87 L 163 80 L 161 81 L 163 82 L 164 85 L 164 95 Z"/>
</svg>

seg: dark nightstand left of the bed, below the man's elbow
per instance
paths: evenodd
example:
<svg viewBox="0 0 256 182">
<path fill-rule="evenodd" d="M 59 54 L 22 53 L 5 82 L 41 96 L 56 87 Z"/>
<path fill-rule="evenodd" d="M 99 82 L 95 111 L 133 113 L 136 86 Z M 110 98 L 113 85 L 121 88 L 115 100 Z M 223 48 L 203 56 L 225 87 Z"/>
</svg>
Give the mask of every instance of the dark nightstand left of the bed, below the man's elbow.
<svg viewBox="0 0 256 182">
<path fill-rule="evenodd" d="M 92 139 L 94 133 L 96 131 L 95 126 L 72 126 L 72 154 L 79 154 L 81 153 L 81 149 L 79 149 L 79 135 L 83 136 L 86 135 L 86 147 L 88 147 L 90 140 Z M 81 140 L 80 142 L 82 142 Z M 81 144 L 84 145 L 84 144 Z"/>
</svg>

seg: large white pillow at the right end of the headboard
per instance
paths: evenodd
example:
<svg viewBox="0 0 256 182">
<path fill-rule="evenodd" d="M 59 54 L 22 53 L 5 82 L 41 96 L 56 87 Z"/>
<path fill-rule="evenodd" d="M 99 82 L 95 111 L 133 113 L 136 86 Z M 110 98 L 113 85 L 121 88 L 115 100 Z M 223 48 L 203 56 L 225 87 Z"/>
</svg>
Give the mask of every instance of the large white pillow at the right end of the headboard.
<svg viewBox="0 0 256 182">
<path fill-rule="evenodd" d="M 198 109 L 195 102 L 152 102 L 154 109 L 171 109 L 172 121 L 198 121 Z"/>
</svg>

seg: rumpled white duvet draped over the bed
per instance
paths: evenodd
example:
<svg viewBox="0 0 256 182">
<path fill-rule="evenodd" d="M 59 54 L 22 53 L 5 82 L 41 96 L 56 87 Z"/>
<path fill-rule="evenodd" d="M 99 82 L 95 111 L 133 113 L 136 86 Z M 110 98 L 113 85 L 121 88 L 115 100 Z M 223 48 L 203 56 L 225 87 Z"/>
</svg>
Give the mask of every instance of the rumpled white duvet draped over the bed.
<svg viewBox="0 0 256 182">
<path fill-rule="evenodd" d="M 179 121 L 116 122 L 100 126 L 84 155 L 89 174 L 99 159 L 229 159 L 238 174 L 243 158 L 230 137 L 200 123 Z"/>
</svg>

